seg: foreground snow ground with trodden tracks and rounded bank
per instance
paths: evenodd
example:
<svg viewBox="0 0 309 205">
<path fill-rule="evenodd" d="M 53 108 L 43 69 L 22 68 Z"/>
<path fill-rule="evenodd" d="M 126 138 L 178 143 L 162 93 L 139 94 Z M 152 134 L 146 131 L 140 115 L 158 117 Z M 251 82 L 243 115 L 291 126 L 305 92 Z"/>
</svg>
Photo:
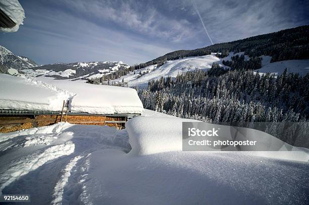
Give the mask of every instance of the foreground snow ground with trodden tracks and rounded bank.
<svg viewBox="0 0 309 205">
<path fill-rule="evenodd" d="M 32 204 L 308 204 L 308 150 L 182 152 L 188 119 L 146 112 L 124 130 L 58 123 L 0 134 L 0 191 Z"/>
</svg>

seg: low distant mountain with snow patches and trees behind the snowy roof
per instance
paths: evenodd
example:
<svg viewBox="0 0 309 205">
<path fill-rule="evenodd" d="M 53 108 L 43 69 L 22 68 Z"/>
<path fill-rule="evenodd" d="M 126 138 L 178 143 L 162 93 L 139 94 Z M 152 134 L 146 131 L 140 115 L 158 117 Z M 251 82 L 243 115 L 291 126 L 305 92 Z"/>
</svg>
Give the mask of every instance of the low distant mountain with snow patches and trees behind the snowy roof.
<svg viewBox="0 0 309 205">
<path fill-rule="evenodd" d="M 45 76 L 57 79 L 93 79 L 126 69 L 129 65 L 122 61 L 72 62 L 41 65 L 22 70 L 29 76 Z"/>
</svg>

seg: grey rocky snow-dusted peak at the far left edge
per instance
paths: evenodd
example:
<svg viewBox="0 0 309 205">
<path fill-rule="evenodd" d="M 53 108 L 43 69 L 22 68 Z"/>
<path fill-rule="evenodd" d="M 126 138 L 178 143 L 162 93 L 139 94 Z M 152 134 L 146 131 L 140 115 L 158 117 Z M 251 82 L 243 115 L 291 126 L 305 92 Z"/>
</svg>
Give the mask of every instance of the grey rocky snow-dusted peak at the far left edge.
<svg viewBox="0 0 309 205">
<path fill-rule="evenodd" d="M 30 67 L 38 66 L 33 60 L 28 57 L 18 56 L 12 53 L 9 49 L 0 45 L 0 64 L 12 67 L 13 69 L 23 70 Z"/>
</svg>

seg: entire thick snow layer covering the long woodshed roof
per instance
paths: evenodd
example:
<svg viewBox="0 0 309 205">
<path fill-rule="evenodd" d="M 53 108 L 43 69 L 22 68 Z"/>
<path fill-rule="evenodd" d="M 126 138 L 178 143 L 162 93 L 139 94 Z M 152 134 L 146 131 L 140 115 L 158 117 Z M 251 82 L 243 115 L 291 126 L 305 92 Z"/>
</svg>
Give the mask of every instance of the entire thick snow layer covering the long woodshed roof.
<svg viewBox="0 0 309 205">
<path fill-rule="evenodd" d="M 142 113 L 136 90 L 86 84 L 83 81 L 53 80 L 41 77 L 0 75 L 0 108 L 25 110 L 62 110 L 70 100 L 72 112 L 96 114 Z"/>
</svg>

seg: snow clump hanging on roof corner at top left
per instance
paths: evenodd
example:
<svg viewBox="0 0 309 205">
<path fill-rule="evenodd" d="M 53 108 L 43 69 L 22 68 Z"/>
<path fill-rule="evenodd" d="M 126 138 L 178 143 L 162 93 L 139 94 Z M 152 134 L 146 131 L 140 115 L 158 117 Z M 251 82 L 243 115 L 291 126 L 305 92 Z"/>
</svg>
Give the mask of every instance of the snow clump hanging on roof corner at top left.
<svg viewBox="0 0 309 205">
<path fill-rule="evenodd" d="M 23 24 L 25 19 L 25 11 L 22 6 L 19 4 L 18 0 L 0 0 L 0 9 L 10 17 L 16 25 L 12 28 L 3 28 L 0 27 L 2 32 L 16 32 L 19 29 L 19 26 Z"/>
</svg>

